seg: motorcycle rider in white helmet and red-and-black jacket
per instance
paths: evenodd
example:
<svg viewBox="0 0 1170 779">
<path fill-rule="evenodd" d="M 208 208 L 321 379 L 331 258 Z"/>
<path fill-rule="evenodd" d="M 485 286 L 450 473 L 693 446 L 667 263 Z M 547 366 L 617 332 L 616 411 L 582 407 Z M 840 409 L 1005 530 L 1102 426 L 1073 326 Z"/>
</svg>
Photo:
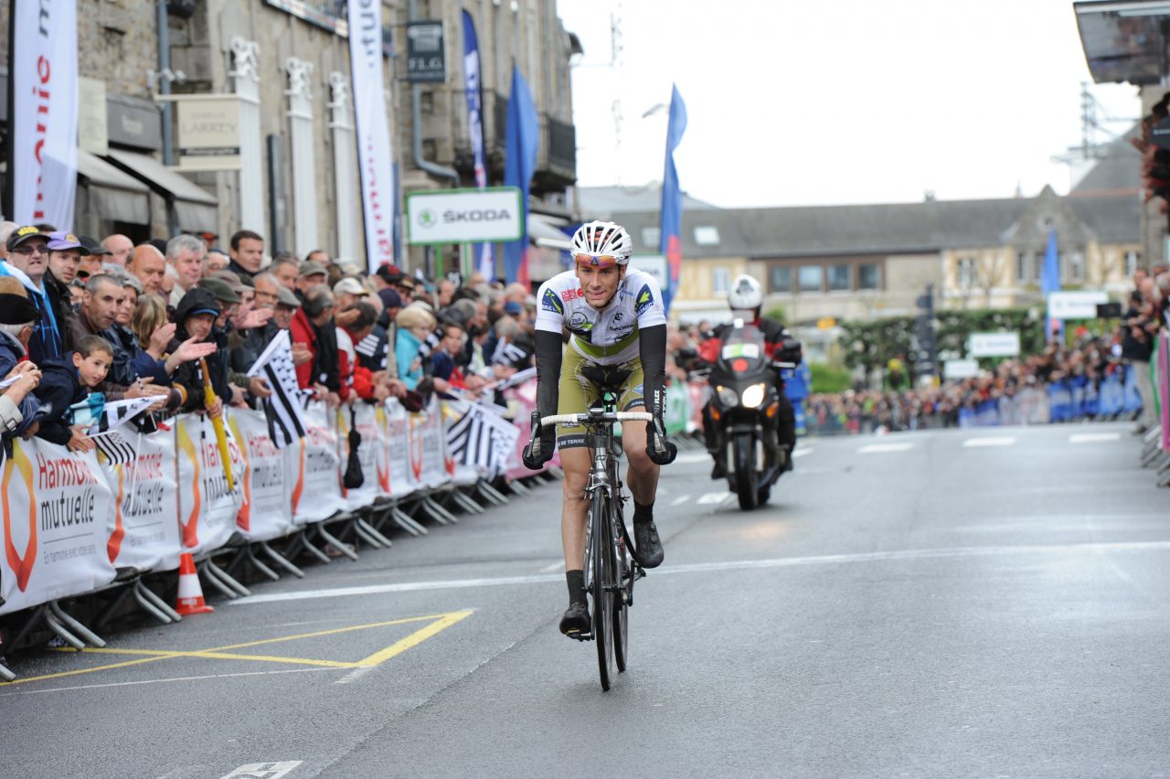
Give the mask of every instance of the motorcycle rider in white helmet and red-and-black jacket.
<svg viewBox="0 0 1170 779">
<path fill-rule="evenodd" d="M 764 353 L 769 359 L 797 363 L 800 360 L 799 345 L 790 346 L 786 342 L 791 339 L 791 333 L 784 324 L 770 317 L 759 315 L 764 304 L 764 290 L 755 277 L 746 274 L 737 276 L 731 283 L 731 291 L 728 292 L 728 304 L 731 306 L 731 315 L 736 319 L 743 319 L 744 324 L 755 325 L 764 338 Z M 698 346 L 700 357 L 708 364 L 714 364 L 720 359 L 720 351 L 723 347 L 723 339 L 728 337 L 735 325 L 725 323 L 715 329 L 711 338 L 708 338 Z M 777 440 L 785 454 L 785 470 L 792 470 L 792 449 L 797 444 L 796 413 L 792 401 L 784 394 L 784 381 L 779 371 L 772 374 L 772 382 L 779 395 L 780 408 L 776 414 L 775 425 Z M 727 442 L 723 440 L 722 427 L 711 419 L 710 401 L 703 406 L 703 437 L 707 442 L 707 451 L 715 459 L 715 467 L 711 469 L 711 478 L 723 478 L 727 470 L 723 457 L 718 454 Z"/>
</svg>

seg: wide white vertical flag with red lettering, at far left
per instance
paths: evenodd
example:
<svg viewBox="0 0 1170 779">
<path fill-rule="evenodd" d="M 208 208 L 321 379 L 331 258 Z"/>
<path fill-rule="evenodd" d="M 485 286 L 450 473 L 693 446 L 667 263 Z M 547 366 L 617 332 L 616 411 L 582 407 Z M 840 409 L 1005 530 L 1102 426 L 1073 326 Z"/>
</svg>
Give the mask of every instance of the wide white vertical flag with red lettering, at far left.
<svg viewBox="0 0 1170 779">
<path fill-rule="evenodd" d="M 19 225 L 73 228 L 77 191 L 77 4 L 11 4 L 12 213 Z"/>
</svg>

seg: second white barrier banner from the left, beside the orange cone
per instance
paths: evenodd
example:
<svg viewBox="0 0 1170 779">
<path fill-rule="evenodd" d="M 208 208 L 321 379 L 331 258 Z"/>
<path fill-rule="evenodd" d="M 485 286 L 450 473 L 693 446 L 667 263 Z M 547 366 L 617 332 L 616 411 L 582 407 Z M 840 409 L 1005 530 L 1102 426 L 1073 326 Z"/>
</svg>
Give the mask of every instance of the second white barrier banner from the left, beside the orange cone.
<svg viewBox="0 0 1170 779">
<path fill-rule="evenodd" d="M 128 426 L 129 427 L 129 426 Z M 106 552 L 116 568 L 171 571 L 179 567 L 179 522 L 174 430 L 131 437 L 136 457 L 102 463 L 112 494 Z"/>
</svg>

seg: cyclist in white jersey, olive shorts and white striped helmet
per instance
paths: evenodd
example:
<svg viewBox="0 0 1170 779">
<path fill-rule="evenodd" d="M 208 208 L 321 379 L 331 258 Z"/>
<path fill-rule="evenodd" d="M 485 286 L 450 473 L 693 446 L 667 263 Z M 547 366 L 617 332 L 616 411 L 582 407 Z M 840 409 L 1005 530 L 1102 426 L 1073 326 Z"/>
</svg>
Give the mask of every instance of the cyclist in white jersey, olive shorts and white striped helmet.
<svg viewBox="0 0 1170 779">
<path fill-rule="evenodd" d="M 662 542 L 654 525 L 654 495 L 659 467 L 674 461 L 675 446 L 666 440 L 663 382 L 666 380 L 666 311 L 658 282 L 629 268 L 633 241 L 613 222 L 583 225 L 572 240 L 573 270 L 558 274 L 537 291 L 536 316 L 537 408 L 541 416 L 587 412 L 600 398 L 600 385 L 618 386 L 618 407 L 645 407 L 646 422 L 625 422 L 621 443 L 629 462 L 626 483 L 634 497 L 636 559 L 647 568 L 662 563 Z M 569 346 L 562 350 L 564 331 Z M 591 451 L 585 428 L 562 425 L 534 430 L 524 449 L 524 464 L 537 469 L 560 447 L 565 471 L 560 540 L 565 553 L 569 609 L 560 632 L 576 637 L 589 633 L 585 599 L 585 497 Z"/>
</svg>

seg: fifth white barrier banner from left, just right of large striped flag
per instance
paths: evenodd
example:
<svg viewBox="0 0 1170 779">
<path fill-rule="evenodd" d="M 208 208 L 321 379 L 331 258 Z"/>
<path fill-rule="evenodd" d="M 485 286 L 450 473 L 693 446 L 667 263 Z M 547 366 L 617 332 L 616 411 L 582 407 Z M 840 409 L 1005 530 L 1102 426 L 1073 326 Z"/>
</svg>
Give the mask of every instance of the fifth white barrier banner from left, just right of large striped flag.
<svg viewBox="0 0 1170 779">
<path fill-rule="evenodd" d="M 337 433 L 325 404 L 304 411 L 305 437 L 285 447 L 285 484 L 292 499 L 292 522 L 303 525 L 328 519 L 345 509 L 337 468 Z"/>
</svg>

